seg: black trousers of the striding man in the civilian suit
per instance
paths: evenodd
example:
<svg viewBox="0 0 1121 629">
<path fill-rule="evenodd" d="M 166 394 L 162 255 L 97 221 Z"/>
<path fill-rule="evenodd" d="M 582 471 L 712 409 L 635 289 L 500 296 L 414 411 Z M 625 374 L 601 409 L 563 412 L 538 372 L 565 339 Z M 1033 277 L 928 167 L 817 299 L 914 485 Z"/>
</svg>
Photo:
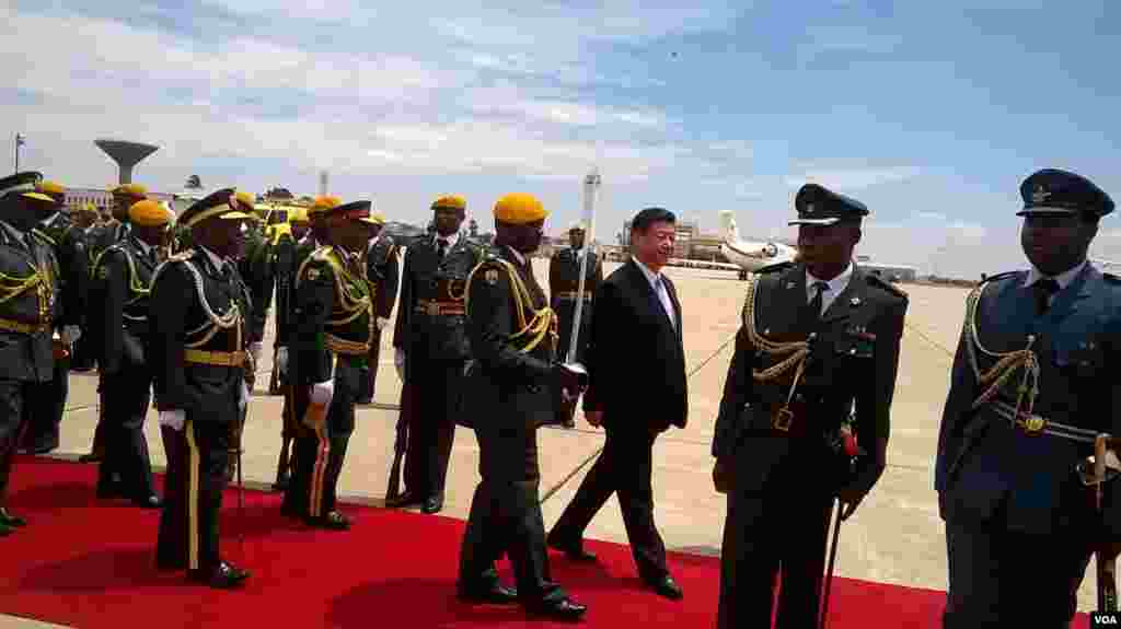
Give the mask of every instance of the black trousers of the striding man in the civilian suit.
<svg viewBox="0 0 1121 629">
<path fill-rule="evenodd" d="M 618 428 L 608 428 L 606 433 L 603 452 L 580 484 L 549 537 L 560 543 L 578 543 L 608 498 L 618 494 L 639 576 L 648 582 L 660 580 L 669 571 L 666 545 L 654 522 L 650 473 L 657 434 Z"/>
</svg>

